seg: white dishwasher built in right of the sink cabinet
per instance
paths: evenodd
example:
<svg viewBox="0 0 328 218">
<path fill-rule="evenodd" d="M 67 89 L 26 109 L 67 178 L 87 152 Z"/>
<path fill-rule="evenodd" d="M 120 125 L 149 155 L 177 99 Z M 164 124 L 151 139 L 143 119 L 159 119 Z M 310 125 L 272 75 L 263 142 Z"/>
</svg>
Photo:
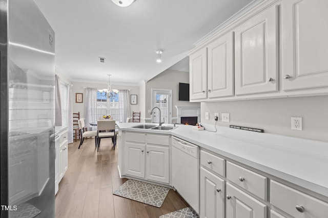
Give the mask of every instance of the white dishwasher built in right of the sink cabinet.
<svg viewBox="0 0 328 218">
<path fill-rule="evenodd" d="M 199 213 L 199 147 L 172 136 L 172 184 Z"/>
</svg>

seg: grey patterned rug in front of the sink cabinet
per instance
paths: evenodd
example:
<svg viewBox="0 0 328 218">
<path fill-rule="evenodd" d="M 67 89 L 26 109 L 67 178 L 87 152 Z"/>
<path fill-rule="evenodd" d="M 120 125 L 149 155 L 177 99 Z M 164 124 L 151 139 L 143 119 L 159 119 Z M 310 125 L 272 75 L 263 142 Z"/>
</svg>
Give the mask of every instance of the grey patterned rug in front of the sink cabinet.
<svg viewBox="0 0 328 218">
<path fill-rule="evenodd" d="M 170 188 L 129 179 L 122 184 L 114 195 L 128 198 L 155 207 L 161 207 Z"/>
</svg>

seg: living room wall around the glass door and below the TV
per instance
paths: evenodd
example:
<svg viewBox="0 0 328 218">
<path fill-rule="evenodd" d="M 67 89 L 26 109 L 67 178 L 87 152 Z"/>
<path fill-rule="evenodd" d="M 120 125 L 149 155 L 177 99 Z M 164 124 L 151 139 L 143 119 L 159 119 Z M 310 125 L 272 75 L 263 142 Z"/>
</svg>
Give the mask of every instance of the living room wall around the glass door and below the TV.
<svg viewBox="0 0 328 218">
<path fill-rule="evenodd" d="M 197 105 L 200 103 L 191 103 L 188 101 L 179 101 L 179 83 L 189 83 L 189 72 L 178 71 L 167 69 L 161 72 L 159 75 L 149 80 L 146 83 L 146 102 L 145 102 L 145 117 L 150 119 L 151 115 L 148 113 L 148 110 L 152 109 L 151 106 L 151 89 L 172 89 L 172 123 L 176 123 L 177 120 L 177 109 L 174 107 L 186 106 L 186 105 Z"/>
</svg>

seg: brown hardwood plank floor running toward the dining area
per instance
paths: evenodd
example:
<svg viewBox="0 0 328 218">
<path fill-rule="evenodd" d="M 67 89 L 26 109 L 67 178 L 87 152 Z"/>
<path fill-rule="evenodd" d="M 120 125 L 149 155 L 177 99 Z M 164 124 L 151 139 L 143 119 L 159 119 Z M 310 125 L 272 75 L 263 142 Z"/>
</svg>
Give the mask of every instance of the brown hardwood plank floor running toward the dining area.
<svg viewBox="0 0 328 218">
<path fill-rule="evenodd" d="M 153 218 L 189 205 L 170 189 L 160 208 L 113 195 L 127 179 L 117 170 L 117 149 L 111 138 L 102 139 L 97 152 L 94 139 L 68 146 L 68 170 L 59 183 L 56 217 Z"/>
</svg>

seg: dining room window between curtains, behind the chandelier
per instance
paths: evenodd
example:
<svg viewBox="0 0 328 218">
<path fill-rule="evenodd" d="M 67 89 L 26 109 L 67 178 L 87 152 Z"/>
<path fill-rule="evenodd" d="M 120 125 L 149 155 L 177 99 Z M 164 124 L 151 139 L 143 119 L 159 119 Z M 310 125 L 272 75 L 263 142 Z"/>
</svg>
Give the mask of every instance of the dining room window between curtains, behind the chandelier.
<svg viewBox="0 0 328 218">
<path fill-rule="evenodd" d="M 118 115 L 118 95 L 117 93 L 115 97 L 107 99 L 106 94 L 100 93 L 97 91 L 97 118 L 100 118 L 103 115 L 111 115 L 114 120 L 119 119 Z"/>
</svg>

